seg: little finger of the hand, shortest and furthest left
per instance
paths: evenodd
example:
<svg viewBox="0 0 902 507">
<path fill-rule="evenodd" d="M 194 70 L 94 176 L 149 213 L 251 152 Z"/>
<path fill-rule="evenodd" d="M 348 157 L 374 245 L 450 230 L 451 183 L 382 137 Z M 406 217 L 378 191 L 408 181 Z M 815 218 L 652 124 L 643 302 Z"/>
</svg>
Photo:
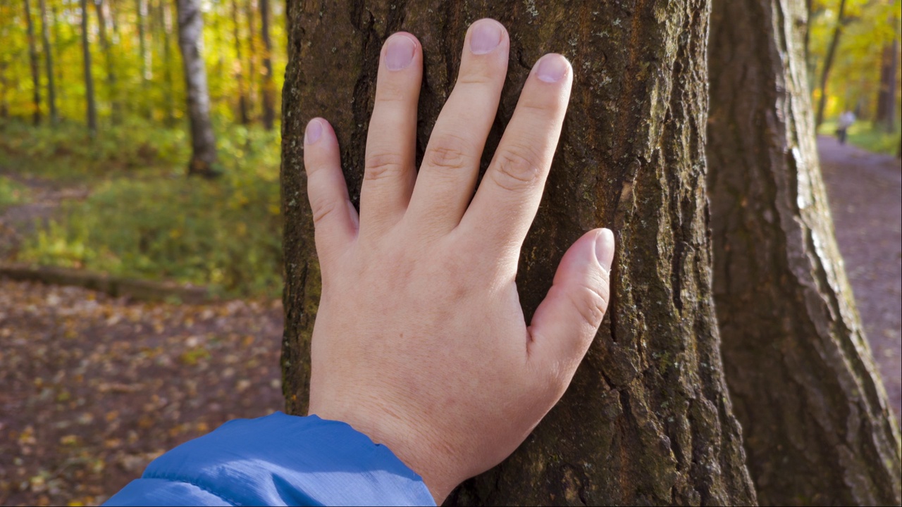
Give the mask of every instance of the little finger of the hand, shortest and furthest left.
<svg viewBox="0 0 902 507">
<path fill-rule="evenodd" d="M 314 118 L 304 134 L 304 166 L 307 170 L 307 195 L 316 228 L 317 253 L 334 255 L 357 235 L 359 219 L 347 195 L 345 175 L 341 171 L 338 139 L 323 118 Z"/>
</svg>

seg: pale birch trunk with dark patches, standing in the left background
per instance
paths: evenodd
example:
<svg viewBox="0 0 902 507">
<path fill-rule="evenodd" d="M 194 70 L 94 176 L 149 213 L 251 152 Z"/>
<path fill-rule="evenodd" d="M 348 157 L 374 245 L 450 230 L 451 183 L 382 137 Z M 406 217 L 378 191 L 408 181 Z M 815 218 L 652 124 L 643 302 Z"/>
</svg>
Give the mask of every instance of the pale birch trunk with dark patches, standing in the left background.
<svg viewBox="0 0 902 507">
<path fill-rule="evenodd" d="M 200 0 L 178 0 L 179 49 L 185 72 L 188 117 L 191 124 L 191 161 L 189 175 L 211 176 L 215 173 L 216 138 L 210 123 L 210 95 L 207 69 L 202 53 L 204 19 Z"/>
</svg>

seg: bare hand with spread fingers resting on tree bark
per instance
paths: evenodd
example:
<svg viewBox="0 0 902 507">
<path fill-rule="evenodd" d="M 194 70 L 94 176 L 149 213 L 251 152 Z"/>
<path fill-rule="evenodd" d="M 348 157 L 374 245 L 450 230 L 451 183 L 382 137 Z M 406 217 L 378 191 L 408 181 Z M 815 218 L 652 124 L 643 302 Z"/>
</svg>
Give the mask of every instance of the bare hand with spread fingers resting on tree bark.
<svg viewBox="0 0 902 507">
<path fill-rule="evenodd" d="M 389 447 L 439 504 L 510 456 L 557 403 L 607 309 L 607 229 L 570 247 L 529 326 L 515 283 L 573 82 L 563 56 L 545 55 L 530 72 L 474 195 L 509 49 L 501 23 L 470 27 L 418 172 L 422 47 L 410 33 L 391 35 L 359 217 L 332 127 L 314 118 L 305 134 L 322 270 L 309 412 Z"/>
</svg>

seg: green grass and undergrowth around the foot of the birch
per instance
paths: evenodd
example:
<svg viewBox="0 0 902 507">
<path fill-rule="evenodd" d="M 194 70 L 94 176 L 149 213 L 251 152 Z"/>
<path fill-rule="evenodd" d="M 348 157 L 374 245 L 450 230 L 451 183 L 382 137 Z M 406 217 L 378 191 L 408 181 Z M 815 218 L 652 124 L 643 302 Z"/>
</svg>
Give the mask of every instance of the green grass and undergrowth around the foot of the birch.
<svg viewBox="0 0 902 507">
<path fill-rule="evenodd" d="M 16 171 L 92 189 L 26 238 L 17 260 L 191 282 L 227 296 L 281 294 L 277 132 L 218 132 L 223 175 L 203 180 L 185 176 L 188 140 L 171 130 L 147 127 L 133 139 L 111 134 L 116 143 L 87 147 L 65 127 L 4 130 L 14 135 L 5 136 L 0 153 Z"/>
</svg>

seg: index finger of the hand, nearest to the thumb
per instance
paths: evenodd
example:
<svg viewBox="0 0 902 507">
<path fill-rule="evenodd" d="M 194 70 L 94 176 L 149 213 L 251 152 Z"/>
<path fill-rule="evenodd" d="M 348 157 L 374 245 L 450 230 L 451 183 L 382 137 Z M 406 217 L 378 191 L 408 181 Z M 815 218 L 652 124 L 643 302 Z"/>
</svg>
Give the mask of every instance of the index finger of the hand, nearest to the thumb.
<svg viewBox="0 0 902 507">
<path fill-rule="evenodd" d="M 564 124 L 573 69 L 559 54 L 540 58 L 520 93 L 511 123 L 460 226 L 499 246 L 520 247 L 538 211 Z"/>
</svg>

